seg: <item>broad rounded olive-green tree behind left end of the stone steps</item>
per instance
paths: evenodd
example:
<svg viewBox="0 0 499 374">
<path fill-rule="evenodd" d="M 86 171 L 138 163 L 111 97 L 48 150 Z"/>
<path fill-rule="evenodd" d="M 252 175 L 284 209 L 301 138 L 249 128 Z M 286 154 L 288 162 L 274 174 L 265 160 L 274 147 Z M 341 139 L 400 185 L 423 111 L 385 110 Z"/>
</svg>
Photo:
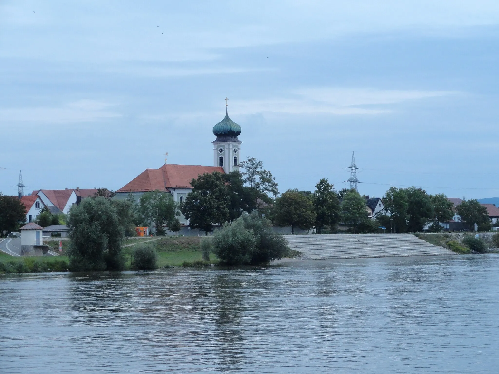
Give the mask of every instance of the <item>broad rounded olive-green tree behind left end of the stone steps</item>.
<svg viewBox="0 0 499 374">
<path fill-rule="evenodd" d="M 288 189 L 275 200 L 272 207 L 272 219 L 279 226 L 300 227 L 309 230 L 315 223 L 315 211 L 312 201 L 296 189 Z"/>
</svg>

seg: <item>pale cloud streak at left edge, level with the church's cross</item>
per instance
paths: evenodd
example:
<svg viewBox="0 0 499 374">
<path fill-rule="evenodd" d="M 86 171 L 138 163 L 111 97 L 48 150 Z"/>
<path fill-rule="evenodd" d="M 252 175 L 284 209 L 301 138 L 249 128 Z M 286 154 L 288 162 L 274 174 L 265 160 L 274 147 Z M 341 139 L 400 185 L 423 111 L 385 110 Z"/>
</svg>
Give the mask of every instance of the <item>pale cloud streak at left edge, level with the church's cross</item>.
<svg viewBox="0 0 499 374">
<path fill-rule="evenodd" d="M 97 100 L 78 100 L 60 107 L 0 108 L 1 122 L 86 122 L 102 118 L 120 117 L 109 110 L 111 104 Z"/>
</svg>

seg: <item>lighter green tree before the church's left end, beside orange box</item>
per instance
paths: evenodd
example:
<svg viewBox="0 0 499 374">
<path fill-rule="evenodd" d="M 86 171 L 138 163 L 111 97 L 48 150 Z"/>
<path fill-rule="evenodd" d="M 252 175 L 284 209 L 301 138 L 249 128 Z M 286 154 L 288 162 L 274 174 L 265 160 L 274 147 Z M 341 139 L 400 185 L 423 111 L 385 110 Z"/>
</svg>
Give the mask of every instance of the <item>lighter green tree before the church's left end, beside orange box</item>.
<svg viewBox="0 0 499 374">
<path fill-rule="evenodd" d="M 140 210 L 144 219 L 154 224 L 157 236 L 163 236 L 165 223 L 172 221 L 179 214 L 172 195 L 160 190 L 144 193 L 140 198 Z"/>
</svg>

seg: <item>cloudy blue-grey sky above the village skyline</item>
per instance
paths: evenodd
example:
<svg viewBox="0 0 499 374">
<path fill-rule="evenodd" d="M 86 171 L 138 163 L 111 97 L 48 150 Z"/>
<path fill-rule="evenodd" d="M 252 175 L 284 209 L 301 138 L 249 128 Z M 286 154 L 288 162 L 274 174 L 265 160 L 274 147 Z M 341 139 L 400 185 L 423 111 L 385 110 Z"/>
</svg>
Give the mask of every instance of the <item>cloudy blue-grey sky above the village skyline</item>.
<svg viewBox="0 0 499 374">
<path fill-rule="evenodd" d="M 492 0 L 3 0 L 0 191 L 211 166 L 228 97 L 281 192 L 499 196 L 498 66 Z"/>
</svg>

